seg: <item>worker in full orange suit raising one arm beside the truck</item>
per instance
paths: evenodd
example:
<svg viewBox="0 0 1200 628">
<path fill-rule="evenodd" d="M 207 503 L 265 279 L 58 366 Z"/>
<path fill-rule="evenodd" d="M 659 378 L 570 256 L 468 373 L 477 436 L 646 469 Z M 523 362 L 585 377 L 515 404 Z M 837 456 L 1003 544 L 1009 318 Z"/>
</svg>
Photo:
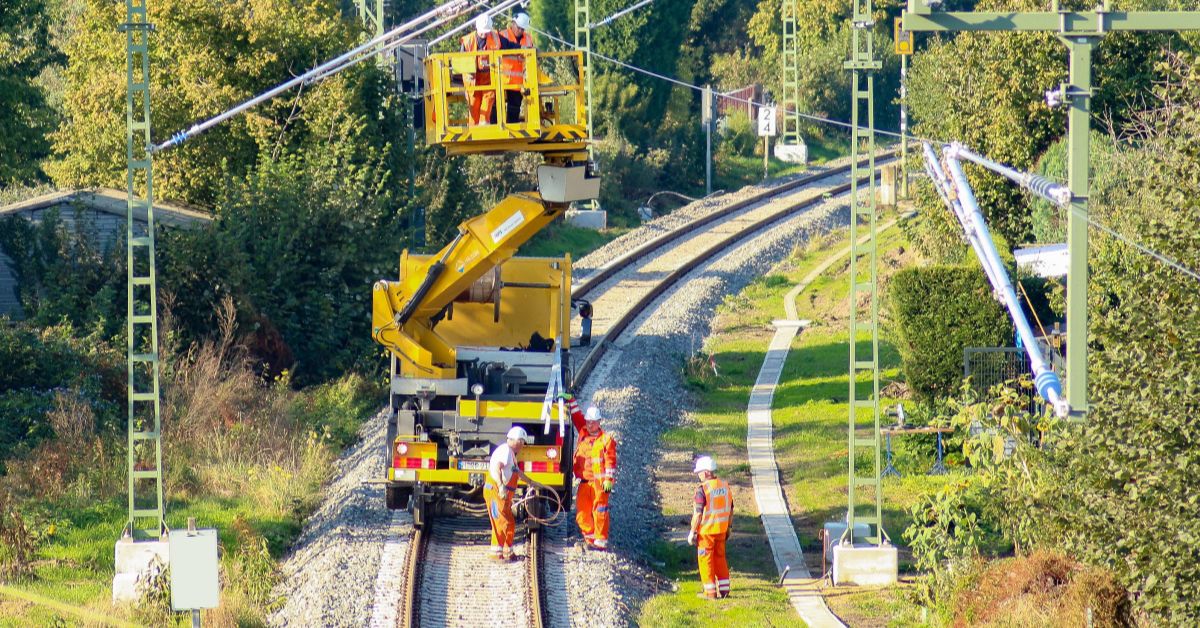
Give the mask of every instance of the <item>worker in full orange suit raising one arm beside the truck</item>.
<svg viewBox="0 0 1200 628">
<path fill-rule="evenodd" d="M 583 546 L 608 550 L 608 527 L 612 522 L 608 498 L 617 483 L 617 441 L 600 429 L 600 408 L 590 406 L 587 414 L 570 394 L 563 396 L 571 408 L 571 423 L 578 432 L 575 443 L 574 469 L 580 488 L 575 492 L 575 522 L 583 534 Z"/>
</svg>

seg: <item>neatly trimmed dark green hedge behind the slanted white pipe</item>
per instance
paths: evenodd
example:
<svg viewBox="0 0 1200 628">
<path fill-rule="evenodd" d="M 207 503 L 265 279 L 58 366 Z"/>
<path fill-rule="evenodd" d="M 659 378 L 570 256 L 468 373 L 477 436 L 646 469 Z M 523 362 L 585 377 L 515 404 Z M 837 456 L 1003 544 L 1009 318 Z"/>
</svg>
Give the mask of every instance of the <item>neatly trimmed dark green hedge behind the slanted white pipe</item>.
<svg viewBox="0 0 1200 628">
<path fill-rule="evenodd" d="M 888 312 L 905 378 L 924 399 L 958 389 L 965 347 L 998 347 L 1012 337 L 978 268 L 900 270 L 888 286 Z"/>
</svg>

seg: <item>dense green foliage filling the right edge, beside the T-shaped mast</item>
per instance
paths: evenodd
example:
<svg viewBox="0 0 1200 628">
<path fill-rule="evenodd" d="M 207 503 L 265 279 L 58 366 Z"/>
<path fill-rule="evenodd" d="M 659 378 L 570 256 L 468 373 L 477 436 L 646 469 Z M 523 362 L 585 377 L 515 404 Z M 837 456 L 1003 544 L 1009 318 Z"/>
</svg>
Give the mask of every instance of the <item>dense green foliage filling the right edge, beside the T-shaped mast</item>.
<svg viewBox="0 0 1200 628">
<path fill-rule="evenodd" d="M 1106 225 L 1200 269 L 1200 65 L 1169 66 L 1148 140 L 1102 196 Z M 1168 210 L 1164 211 L 1164 208 Z M 1108 566 L 1157 623 L 1200 621 L 1200 289 L 1128 244 L 1093 234 L 1087 424 L 1056 448 L 1057 538 Z"/>
</svg>

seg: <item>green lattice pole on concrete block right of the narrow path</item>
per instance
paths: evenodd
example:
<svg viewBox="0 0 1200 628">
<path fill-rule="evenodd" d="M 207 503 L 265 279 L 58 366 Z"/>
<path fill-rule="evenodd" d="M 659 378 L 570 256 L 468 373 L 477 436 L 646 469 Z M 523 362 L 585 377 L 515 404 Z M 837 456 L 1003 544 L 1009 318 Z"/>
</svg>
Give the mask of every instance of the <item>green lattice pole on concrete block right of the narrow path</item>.
<svg viewBox="0 0 1200 628">
<path fill-rule="evenodd" d="M 854 0 L 854 12 L 851 16 L 853 26 L 851 35 L 850 60 L 846 70 L 851 71 L 851 213 L 850 213 L 850 418 L 847 421 L 847 441 L 850 460 L 847 462 L 847 500 L 846 500 L 846 536 L 842 542 L 854 544 L 854 525 L 866 524 L 870 532 L 868 542 L 880 545 L 886 538 L 883 532 L 883 494 L 880 485 L 880 299 L 878 299 L 878 245 L 876 241 L 875 211 L 875 72 L 882 64 L 875 58 L 875 43 L 871 35 L 871 0 Z M 863 125 L 865 118 L 865 125 Z M 866 165 L 859 166 L 859 159 L 866 152 Z M 866 178 L 866 197 L 859 192 L 858 181 Z M 860 223 L 862 221 L 862 223 Z M 865 233 L 862 229 L 865 227 Z M 868 241 L 859 244 L 859 237 L 866 235 Z M 858 304 L 866 298 L 870 319 L 859 321 Z M 860 355 L 858 334 L 866 328 L 871 335 L 868 355 Z M 871 382 L 871 393 L 865 399 L 858 394 L 859 376 L 866 372 Z M 871 423 L 859 423 L 859 409 L 869 409 Z M 857 468 L 859 455 L 870 460 L 871 474 L 860 476 Z M 869 513 L 860 510 L 865 503 L 858 495 L 859 489 L 871 489 L 874 508 Z"/>
</svg>

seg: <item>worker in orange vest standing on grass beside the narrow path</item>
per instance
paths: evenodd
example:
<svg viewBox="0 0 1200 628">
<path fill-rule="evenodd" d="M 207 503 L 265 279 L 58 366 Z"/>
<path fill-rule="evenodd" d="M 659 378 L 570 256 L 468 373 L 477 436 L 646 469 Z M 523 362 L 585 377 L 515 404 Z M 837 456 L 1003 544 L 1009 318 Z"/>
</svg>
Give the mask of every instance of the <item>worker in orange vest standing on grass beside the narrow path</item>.
<svg viewBox="0 0 1200 628">
<path fill-rule="evenodd" d="M 709 456 L 696 459 L 700 486 L 696 489 L 696 507 L 691 515 L 688 545 L 696 545 L 700 562 L 700 582 L 704 586 L 701 597 L 725 598 L 730 594 L 730 563 L 725 561 L 725 540 L 730 536 L 733 519 L 733 495 L 730 485 L 716 477 L 716 462 Z"/>
</svg>

